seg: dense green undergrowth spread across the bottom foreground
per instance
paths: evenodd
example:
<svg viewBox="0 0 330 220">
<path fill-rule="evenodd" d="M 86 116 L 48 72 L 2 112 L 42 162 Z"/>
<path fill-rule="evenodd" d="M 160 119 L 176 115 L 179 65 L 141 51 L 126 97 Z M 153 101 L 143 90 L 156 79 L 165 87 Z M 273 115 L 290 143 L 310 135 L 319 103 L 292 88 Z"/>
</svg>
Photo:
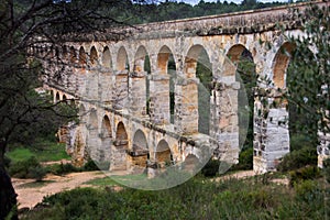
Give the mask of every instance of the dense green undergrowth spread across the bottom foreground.
<svg viewBox="0 0 330 220">
<path fill-rule="evenodd" d="M 64 191 L 45 198 L 44 206 L 22 219 L 323 219 L 329 215 L 326 194 L 317 180 L 287 188 L 262 176 L 219 183 L 195 178 L 161 191 Z"/>
</svg>

